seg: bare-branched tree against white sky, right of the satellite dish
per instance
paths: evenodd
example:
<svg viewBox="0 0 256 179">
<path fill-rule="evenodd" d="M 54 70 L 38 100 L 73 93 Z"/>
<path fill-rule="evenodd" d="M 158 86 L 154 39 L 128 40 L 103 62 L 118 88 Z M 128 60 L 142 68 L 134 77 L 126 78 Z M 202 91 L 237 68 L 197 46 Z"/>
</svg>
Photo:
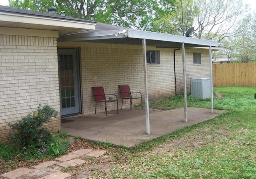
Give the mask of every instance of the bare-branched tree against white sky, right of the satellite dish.
<svg viewBox="0 0 256 179">
<path fill-rule="evenodd" d="M 240 0 L 196 0 L 194 6 L 199 10 L 194 21 L 197 38 L 222 41 L 239 33 L 234 26 L 245 11 Z"/>
</svg>

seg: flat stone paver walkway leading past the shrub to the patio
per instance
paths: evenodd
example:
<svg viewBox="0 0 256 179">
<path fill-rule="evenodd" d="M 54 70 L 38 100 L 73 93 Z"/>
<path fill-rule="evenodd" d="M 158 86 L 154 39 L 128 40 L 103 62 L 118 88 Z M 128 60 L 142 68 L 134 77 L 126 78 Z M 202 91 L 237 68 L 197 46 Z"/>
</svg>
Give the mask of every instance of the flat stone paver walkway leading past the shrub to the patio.
<svg viewBox="0 0 256 179">
<path fill-rule="evenodd" d="M 7 179 L 25 179 L 26 177 L 37 177 L 38 179 L 65 179 L 70 177 L 69 173 L 64 173 L 61 170 L 66 167 L 75 167 L 85 163 L 85 160 L 79 159 L 81 156 L 100 157 L 104 155 L 104 150 L 80 149 L 61 157 L 55 158 L 53 161 L 45 161 L 29 168 L 19 168 L 9 171 L 0 176 Z M 43 175 L 42 175 L 43 174 Z M 22 177 L 26 175 L 26 177 Z"/>
</svg>

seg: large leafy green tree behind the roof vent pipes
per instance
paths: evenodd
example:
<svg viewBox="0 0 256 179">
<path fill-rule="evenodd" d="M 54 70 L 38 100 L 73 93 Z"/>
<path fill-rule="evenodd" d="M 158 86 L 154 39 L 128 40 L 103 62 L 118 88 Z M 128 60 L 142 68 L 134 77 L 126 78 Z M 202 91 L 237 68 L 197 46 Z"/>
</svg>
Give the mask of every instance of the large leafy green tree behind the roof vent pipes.
<svg viewBox="0 0 256 179">
<path fill-rule="evenodd" d="M 143 28 L 153 13 L 154 0 L 9 0 L 16 8 L 48 12 L 49 6 L 57 8 L 57 14 L 65 11 L 66 16 L 88 19 L 94 14 L 96 22 Z"/>
</svg>

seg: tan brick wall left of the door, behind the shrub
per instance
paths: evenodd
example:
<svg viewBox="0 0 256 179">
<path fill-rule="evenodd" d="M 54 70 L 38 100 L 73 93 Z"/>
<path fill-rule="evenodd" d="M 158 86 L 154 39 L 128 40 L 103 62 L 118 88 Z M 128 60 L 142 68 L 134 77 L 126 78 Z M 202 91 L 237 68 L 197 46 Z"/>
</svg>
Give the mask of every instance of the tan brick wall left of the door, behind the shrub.
<svg viewBox="0 0 256 179">
<path fill-rule="evenodd" d="M 57 42 L 52 37 L 0 34 L 0 140 L 39 104 L 60 112 Z M 48 126 L 60 129 L 59 117 Z"/>
</svg>

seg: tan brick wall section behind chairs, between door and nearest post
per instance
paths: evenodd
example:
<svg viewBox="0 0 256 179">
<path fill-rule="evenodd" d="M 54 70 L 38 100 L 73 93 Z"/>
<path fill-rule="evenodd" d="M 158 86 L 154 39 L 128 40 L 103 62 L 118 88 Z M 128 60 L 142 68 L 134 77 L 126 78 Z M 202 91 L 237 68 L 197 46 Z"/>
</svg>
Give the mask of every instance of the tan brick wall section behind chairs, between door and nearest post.
<svg viewBox="0 0 256 179">
<path fill-rule="evenodd" d="M 140 91 L 144 94 L 142 49 L 107 46 L 81 48 L 84 114 L 95 110 L 92 87 L 103 86 L 105 93 L 117 94 L 120 107 L 121 96 L 118 85 L 130 85 L 132 91 Z M 115 103 L 107 105 L 109 109 L 116 109 Z M 124 107 L 128 107 L 128 100 L 125 100 Z M 104 104 L 98 104 L 97 111 L 104 111 Z"/>
</svg>

